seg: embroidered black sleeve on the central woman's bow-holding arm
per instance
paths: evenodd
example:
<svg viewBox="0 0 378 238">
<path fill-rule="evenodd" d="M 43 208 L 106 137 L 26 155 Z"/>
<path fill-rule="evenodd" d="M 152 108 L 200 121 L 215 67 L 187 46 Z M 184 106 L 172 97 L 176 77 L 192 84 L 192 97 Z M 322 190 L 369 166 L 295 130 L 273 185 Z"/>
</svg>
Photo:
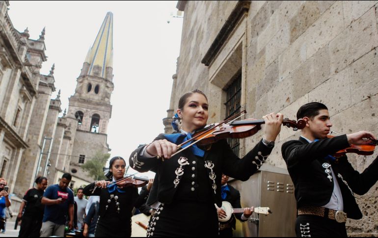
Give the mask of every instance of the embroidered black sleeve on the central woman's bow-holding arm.
<svg viewBox="0 0 378 238">
<path fill-rule="evenodd" d="M 160 134 L 155 140 L 164 139 L 163 134 Z M 145 146 L 137 148 L 133 153 L 131 153 L 129 163 L 130 166 L 138 172 L 147 172 L 149 170 L 156 172 L 157 167 L 162 162 L 161 159 L 157 159 L 156 157 L 147 157 L 144 155 Z"/>
</svg>

